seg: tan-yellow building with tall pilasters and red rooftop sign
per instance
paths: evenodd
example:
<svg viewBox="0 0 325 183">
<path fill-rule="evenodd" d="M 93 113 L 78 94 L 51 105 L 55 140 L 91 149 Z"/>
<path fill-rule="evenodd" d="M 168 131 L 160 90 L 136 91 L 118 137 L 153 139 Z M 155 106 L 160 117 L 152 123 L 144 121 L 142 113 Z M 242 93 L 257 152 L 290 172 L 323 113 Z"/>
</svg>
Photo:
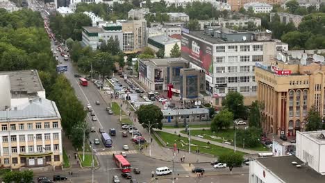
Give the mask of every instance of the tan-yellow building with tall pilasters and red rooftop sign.
<svg viewBox="0 0 325 183">
<path fill-rule="evenodd" d="M 324 57 L 292 52 L 256 64 L 258 101 L 265 103 L 263 130 L 278 136 L 303 131 L 310 107 L 325 115 Z"/>
</svg>

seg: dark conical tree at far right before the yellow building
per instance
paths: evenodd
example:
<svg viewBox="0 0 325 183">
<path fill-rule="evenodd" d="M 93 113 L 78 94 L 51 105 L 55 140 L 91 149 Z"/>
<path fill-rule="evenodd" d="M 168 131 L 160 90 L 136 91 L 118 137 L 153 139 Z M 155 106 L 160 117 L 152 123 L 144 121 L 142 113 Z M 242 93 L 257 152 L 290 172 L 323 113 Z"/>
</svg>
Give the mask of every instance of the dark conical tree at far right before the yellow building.
<svg viewBox="0 0 325 183">
<path fill-rule="evenodd" d="M 306 118 L 306 131 L 316 131 L 322 128 L 322 117 L 315 107 L 311 107 Z"/>
</svg>

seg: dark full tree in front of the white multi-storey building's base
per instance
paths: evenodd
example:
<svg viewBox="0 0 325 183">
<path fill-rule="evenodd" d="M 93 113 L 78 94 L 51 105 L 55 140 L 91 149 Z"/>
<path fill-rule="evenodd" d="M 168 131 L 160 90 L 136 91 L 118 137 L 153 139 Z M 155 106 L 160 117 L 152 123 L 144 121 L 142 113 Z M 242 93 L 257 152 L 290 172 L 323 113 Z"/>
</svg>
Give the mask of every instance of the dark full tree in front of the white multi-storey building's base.
<svg viewBox="0 0 325 183">
<path fill-rule="evenodd" d="M 222 106 L 232 112 L 235 119 L 245 116 L 244 96 L 239 92 L 229 92 L 222 101 Z"/>
</svg>

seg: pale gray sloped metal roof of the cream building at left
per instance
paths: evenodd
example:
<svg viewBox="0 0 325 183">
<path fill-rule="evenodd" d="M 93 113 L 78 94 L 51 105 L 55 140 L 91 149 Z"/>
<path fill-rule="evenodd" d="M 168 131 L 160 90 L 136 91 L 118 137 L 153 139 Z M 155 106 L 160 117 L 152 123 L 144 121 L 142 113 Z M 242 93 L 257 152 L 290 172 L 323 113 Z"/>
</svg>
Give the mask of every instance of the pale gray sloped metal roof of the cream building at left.
<svg viewBox="0 0 325 183">
<path fill-rule="evenodd" d="M 31 121 L 61 119 L 56 103 L 46 98 L 35 98 L 8 111 L 0 111 L 0 121 Z"/>
</svg>

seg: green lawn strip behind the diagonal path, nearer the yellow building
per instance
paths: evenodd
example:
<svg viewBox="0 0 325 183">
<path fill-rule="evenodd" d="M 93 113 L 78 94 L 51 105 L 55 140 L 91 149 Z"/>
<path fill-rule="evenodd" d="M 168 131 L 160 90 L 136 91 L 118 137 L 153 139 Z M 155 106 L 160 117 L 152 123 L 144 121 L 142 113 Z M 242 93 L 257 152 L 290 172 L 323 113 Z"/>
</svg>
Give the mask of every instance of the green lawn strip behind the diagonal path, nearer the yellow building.
<svg viewBox="0 0 325 183">
<path fill-rule="evenodd" d="M 181 133 L 186 134 L 185 130 L 182 130 Z M 233 128 L 230 128 L 227 130 L 222 130 L 220 132 L 215 132 L 215 133 L 211 132 L 211 130 L 191 130 L 191 135 L 193 135 L 193 136 L 203 135 L 203 139 L 208 139 L 211 141 L 217 141 L 217 142 L 221 142 L 221 143 L 224 142 L 224 140 L 225 140 L 225 141 L 231 142 L 232 144 L 233 144 L 233 138 L 234 138 Z M 212 138 L 210 136 L 218 137 L 218 139 Z M 240 142 L 240 144 L 242 144 L 242 143 Z M 242 145 L 240 145 L 238 147 L 242 148 Z M 257 150 L 257 151 L 268 151 L 269 150 L 268 148 L 263 146 L 262 143 L 260 143 L 258 146 L 254 147 L 254 148 L 247 148 L 247 149 Z"/>
</svg>

